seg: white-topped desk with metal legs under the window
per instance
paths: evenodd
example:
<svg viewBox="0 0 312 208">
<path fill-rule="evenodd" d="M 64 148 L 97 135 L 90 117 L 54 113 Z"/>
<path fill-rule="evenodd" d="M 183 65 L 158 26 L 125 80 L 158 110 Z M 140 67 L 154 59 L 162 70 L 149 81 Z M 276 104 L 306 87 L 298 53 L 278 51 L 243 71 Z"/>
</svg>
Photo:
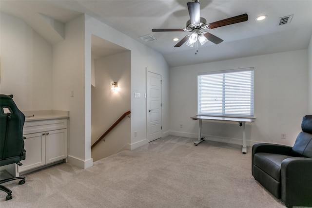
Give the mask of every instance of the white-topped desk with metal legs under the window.
<svg viewBox="0 0 312 208">
<path fill-rule="evenodd" d="M 239 123 L 239 126 L 243 127 L 243 150 L 242 152 L 246 154 L 246 132 L 245 132 L 245 122 L 254 122 L 254 118 L 240 118 L 240 117 L 220 117 L 220 116 L 207 116 L 207 115 L 195 115 L 191 117 L 193 120 L 199 120 L 198 127 L 198 140 L 194 143 L 196 146 L 204 141 L 204 138 L 201 137 L 201 121 L 202 120 L 215 120 L 215 121 L 236 121 Z"/>
</svg>

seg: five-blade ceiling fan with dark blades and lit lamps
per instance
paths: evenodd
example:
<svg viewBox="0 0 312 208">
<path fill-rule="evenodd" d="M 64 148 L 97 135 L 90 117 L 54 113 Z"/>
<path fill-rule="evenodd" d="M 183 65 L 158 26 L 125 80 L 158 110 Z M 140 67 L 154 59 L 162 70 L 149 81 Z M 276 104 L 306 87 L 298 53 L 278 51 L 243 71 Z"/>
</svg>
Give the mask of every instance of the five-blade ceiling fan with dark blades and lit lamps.
<svg viewBox="0 0 312 208">
<path fill-rule="evenodd" d="M 218 38 L 213 34 L 208 33 L 207 31 L 204 30 L 222 27 L 248 20 L 248 15 L 243 14 L 207 24 L 206 19 L 200 17 L 199 0 L 188 2 L 187 7 L 189 9 L 190 19 L 186 22 L 186 29 L 152 29 L 152 32 L 191 32 L 191 34 L 182 38 L 175 45 L 175 47 L 180 47 L 185 42 L 188 46 L 193 47 L 195 43 L 197 51 L 197 40 L 200 42 L 201 45 L 205 44 L 208 40 L 210 40 L 215 44 L 219 44 L 223 41 L 221 38 Z"/>
</svg>

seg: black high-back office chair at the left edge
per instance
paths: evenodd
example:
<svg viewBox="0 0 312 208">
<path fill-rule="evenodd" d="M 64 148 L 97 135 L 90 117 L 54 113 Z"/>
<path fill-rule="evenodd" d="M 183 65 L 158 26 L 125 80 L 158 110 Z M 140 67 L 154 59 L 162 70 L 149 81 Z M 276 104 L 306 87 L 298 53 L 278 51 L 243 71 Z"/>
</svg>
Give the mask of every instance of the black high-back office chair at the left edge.
<svg viewBox="0 0 312 208">
<path fill-rule="evenodd" d="M 0 95 L 0 166 L 18 164 L 26 157 L 24 149 L 23 126 L 25 116 L 13 101 L 13 95 Z M 0 180 L 0 184 L 21 179 L 19 184 L 25 183 L 25 177 L 13 177 Z M 0 185 L 0 190 L 8 195 L 5 200 L 12 199 L 12 191 Z"/>
</svg>

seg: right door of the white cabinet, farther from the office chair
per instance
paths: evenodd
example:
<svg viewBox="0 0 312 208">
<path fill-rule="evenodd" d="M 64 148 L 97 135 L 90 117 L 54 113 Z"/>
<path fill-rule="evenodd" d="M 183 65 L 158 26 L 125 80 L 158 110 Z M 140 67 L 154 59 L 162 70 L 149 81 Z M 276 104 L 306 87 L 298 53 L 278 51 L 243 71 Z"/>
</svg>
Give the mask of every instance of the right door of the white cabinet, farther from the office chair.
<svg viewBox="0 0 312 208">
<path fill-rule="evenodd" d="M 45 153 L 47 164 L 67 158 L 67 129 L 46 132 Z"/>
</svg>

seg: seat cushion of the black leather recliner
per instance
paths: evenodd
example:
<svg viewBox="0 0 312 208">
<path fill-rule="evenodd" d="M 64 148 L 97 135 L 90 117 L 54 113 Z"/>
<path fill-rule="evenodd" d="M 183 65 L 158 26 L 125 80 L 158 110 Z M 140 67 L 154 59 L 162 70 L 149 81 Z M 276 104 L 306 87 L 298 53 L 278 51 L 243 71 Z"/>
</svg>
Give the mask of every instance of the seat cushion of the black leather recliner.
<svg viewBox="0 0 312 208">
<path fill-rule="evenodd" d="M 266 172 L 276 181 L 280 181 L 282 161 L 291 157 L 292 156 L 284 154 L 258 152 L 254 154 L 254 165 Z"/>
</svg>

